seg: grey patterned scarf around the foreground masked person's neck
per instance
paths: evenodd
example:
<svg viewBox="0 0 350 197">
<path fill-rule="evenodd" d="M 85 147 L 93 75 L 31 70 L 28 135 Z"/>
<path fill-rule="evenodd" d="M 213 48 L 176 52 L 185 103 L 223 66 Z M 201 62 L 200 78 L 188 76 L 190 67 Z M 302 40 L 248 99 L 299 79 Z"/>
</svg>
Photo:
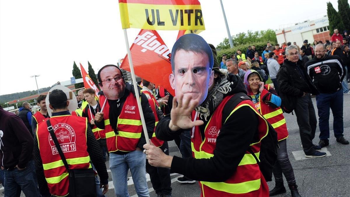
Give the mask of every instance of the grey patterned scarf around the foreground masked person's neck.
<svg viewBox="0 0 350 197">
<path fill-rule="evenodd" d="M 229 82 L 227 75 L 224 75 L 222 77 L 220 77 L 220 75 L 218 76 L 218 80 L 214 88 L 209 91 L 207 98 L 203 101 L 202 104 L 195 108 L 201 119 L 204 118 L 205 121 L 208 121 L 207 118 L 221 103 L 224 94 L 227 94 L 232 90 L 230 87 L 231 84 L 233 84 L 233 82 Z"/>
</svg>

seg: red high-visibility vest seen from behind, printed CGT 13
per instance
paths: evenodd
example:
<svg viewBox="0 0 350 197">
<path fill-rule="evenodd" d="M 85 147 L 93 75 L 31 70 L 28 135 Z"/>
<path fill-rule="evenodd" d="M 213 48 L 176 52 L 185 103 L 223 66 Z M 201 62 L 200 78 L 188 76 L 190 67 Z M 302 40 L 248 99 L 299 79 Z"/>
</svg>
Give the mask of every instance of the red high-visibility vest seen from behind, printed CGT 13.
<svg viewBox="0 0 350 197">
<path fill-rule="evenodd" d="M 63 115 L 52 116 L 50 122 L 69 169 L 91 168 L 86 145 L 87 119 Z M 68 171 L 64 167 L 45 122 L 38 124 L 36 137 L 49 192 L 55 196 L 68 195 Z"/>
</svg>

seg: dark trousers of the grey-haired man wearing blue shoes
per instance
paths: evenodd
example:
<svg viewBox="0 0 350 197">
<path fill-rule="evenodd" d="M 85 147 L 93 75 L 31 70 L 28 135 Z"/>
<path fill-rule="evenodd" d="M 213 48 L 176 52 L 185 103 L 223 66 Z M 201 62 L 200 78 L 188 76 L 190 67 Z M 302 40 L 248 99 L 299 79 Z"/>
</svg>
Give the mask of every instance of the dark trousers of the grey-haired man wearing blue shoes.
<svg viewBox="0 0 350 197">
<path fill-rule="evenodd" d="M 315 151 L 312 140 L 315 138 L 317 119 L 309 93 L 297 99 L 294 111 L 304 152 L 307 155 L 312 154 Z"/>
</svg>

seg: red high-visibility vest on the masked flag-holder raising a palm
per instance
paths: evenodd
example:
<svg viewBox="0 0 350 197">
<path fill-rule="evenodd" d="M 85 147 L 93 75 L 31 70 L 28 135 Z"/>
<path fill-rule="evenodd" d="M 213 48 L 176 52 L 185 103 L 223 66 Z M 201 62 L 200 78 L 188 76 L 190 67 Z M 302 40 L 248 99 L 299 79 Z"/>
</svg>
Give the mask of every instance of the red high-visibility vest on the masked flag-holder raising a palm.
<svg viewBox="0 0 350 197">
<path fill-rule="evenodd" d="M 215 109 L 209 122 L 207 123 L 204 131 L 204 141 L 202 141 L 201 131 L 198 126 L 193 128 L 193 138 L 191 138 L 192 154 L 196 159 L 206 158 L 209 159 L 214 157 L 214 150 L 216 147 L 216 138 L 220 133 L 222 127 L 222 111 L 225 104 L 230 100 L 231 96 L 226 96 L 223 101 Z M 259 141 L 250 144 L 251 150 L 259 158 L 261 140 L 267 135 L 268 126 L 265 119 L 255 109 L 252 101 L 245 100 L 241 101 L 231 112 L 230 115 L 235 113 L 237 109 L 243 106 L 250 107 L 259 117 L 258 125 L 258 137 Z M 229 117 L 226 118 L 226 120 Z M 192 120 L 199 120 L 198 115 L 195 111 L 192 113 Z M 239 139 L 237 139 L 239 140 Z M 232 142 L 235 143 L 235 142 Z M 235 150 L 231 150 L 235 151 Z M 210 169 L 208 169 L 210 170 Z M 205 172 L 203 172 L 205 173 Z M 261 174 L 259 165 L 250 152 L 245 151 L 245 155 L 238 164 L 237 169 L 224 182 L 205 182 L 200 181 L 201 196 L 268 196 L 268 186 L 266 184 L 264 176 Z"/>
</svg>

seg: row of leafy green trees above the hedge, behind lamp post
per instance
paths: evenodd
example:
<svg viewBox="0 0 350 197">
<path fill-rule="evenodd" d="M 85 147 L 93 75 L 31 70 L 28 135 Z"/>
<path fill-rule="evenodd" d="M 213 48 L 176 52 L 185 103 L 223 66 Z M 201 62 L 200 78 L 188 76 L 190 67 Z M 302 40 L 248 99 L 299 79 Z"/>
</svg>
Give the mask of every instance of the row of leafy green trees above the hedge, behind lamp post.
<svg viewBox="0 0 350 197">
<path fill-rule="evenodd" d="M 232 37 L 233 46 L 253 44 L 256 42 L 277 43 L 276 33 L 272 29 L 262 30 L 260 32 L 259 31 L 252 32 L 248 30 L 247 33 L 241 32 L 231 37 Z M 229 49 L 230 48 L 229 39 L 225 38 L 221 43 L 219 43 L 219 45 L 216 48 L 217 50 Z"/>
</svg>

